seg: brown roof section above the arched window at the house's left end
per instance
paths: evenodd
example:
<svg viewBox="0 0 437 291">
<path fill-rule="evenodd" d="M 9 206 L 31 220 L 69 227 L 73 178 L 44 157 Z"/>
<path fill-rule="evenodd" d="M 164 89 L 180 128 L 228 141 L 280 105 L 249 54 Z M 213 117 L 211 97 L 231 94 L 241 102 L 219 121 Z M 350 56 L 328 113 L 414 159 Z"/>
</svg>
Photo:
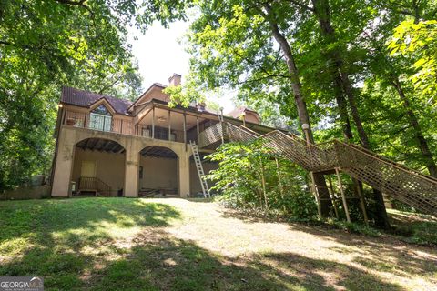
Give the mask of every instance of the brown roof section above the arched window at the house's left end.
<svg viewBox="0 0 437 291">
<path fill-rule="evenodd" d="M 101 99 L 105 99 L 107 103 L 113 107 L 117 114 L 129 115 L 127 113 L 127 108 L 132 104 L 132 102 L 128 100 L 119 99 L 108 95 L 100 95 L 66 86 L 62 87 L 61 102 L 64 104 L 89 108 L 91 105 L 95 104 Z"/>
</svg>

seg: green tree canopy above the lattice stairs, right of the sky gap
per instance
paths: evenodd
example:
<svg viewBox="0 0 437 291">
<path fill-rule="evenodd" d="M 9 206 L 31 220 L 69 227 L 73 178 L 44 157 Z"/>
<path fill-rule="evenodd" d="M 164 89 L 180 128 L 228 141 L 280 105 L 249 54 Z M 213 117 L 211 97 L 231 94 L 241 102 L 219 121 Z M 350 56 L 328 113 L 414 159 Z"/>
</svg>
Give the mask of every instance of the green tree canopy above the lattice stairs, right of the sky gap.
<svg viewBox="0 0 437 291">
<path fill-rule="evenodd" d="M 337 97 L 349 96 L 335 80 L 340 64 L 356 99 L 353 117 L 361 118 L 371 149 L 432 174 L 435 1 L 276 1 L 270 4 L 271 17 L 263 3 L 253 1 L 197 5 L 187 43 L 198 86 L 230 87 L 268 125 L 299 128 L 287 57 L 272 35 L 273 21 L 294 56 L 316 141 L 344 138 Z M 320 21 L 323 11 L 328 14 Z M 399 46 L 395 54 L 387 47 L 389 39 Z M 358 143 L 359 128 L 348 106 L 343 114 L 351 124 L 348 141 Z"/>
</svg>

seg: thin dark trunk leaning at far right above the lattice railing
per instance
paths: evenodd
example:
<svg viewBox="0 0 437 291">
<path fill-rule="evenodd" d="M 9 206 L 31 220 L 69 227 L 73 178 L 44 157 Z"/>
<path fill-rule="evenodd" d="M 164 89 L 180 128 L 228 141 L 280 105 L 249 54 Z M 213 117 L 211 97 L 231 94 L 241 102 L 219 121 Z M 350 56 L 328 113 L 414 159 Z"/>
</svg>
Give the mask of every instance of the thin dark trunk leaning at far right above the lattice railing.
<svg viewBox="0 0 437 291">
<path fill-rule="evenodd" d="M 425 161 L 426 168 L 428 169 L 428 172 L 430 172 L 431 176 L 437 177 L 437 166 L 432 156 L 430 146 L 428 146 L 428 142 L 426 141 L 426 138 L 422 132 L 422 127 L 421 125 L 419 125 L 419 120 L 417 116 L 414 114 L 414 112 L 412 111 L 410 100 L 408 100 L 408 97 L 405 95 L 401 82 L 399 81 L 399 78 L 397 76 L 395 75 L 392 76 L 391 85 L 393 85 L 393 87 L 398 92 L 402 100 L 402 105 L 407 111 L 408 118 L 410 119 L 410 125 L 412 125 L 412 128 L 415 131 L 414 135 L 419 144 L 419 148 L 422 152 L 422 156 Z"/>
</svg>

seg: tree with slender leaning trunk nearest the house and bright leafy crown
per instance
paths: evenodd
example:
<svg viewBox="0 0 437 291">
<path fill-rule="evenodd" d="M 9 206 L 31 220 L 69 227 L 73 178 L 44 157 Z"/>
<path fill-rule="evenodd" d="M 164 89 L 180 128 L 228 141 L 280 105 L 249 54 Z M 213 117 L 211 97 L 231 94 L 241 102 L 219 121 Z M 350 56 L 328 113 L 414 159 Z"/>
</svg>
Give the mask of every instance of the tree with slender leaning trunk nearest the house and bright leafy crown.
<svg viewBox="0 0 437 291">
<path fill-rule="evenodd" d="M 188 36 L 191 69 L 198 84 L 207 88 L 241 86 L 252 92 L 264 85 L 280 85 L 289 93 L 286 102 L 290 103 L 290 97 L 294 100 L 300 125 L 310 125 L 299 70 L 285 35 L 284 5 L 225 1 L 201 2 L 199 6 L 201 15 Z M 310 141 L 314 142 L 311 130 Z M 320 186 L 322 214 L 329 216 L 330 195 L 322 175 L 316 175 L 316 184 Z"/>
</svg>

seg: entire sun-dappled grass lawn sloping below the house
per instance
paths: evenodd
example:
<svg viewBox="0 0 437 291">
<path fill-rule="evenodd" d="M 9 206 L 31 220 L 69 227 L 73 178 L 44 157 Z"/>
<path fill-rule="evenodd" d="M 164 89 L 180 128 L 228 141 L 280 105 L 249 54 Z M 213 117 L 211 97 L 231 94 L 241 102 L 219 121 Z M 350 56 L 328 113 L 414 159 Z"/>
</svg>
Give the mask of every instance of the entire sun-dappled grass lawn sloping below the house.
<svg viewBox="0 0 437 291">
<path fill-rule="evenodd" d="M 46 290 L 437 290 L 437 248 L 210 202 L 2 201 L 0 227 L 0 276 L 43 276 Z"/>
</svg>

